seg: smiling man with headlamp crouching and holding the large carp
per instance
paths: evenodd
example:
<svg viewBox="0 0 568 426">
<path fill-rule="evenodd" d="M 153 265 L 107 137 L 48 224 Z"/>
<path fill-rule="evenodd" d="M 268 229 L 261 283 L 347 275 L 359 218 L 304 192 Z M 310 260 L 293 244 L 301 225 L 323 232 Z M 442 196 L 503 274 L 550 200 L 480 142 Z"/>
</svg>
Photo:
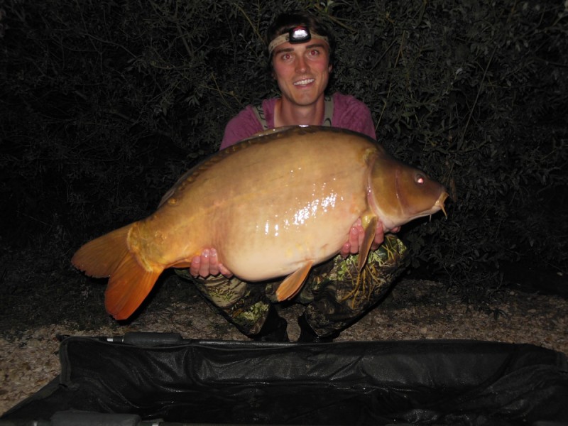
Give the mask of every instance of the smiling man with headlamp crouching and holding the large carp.
<svg viewBox="0 0 568 426">
<path fill-rule="evenodd" d="M 371 112 L 363 102 L 340 93 L 330 97 L 324 94 L 333 68 L 334 40 L 317 18 L 305 13 L 284 13 L 275 19 L 267 35 L 272 75 L 281 96 L 265 99 L 258 107 L 246 107 L 231 119 L 221 148 L 258 131 L 290 125 L 341 127 L 376 138 Z M 398 229 L 383 229 L 378 224 L 371 249 L 383 243 L 386 231 Z M 356 253 L 363 236 L 359 219 L 341 253 L 310 273 L 296 297 L 307 306 L 298 320 L 299 342 L 330 342 L 375 305 L 402 270 L 406 248 L 391 235 L 380 249 L 371 251 L 359 275 Z M 205 297 L 247 336 L 288 341 L 287 324 L 273 305 L 278 282 L 245 283 L 231 278 L 231 271 L 219 263 L 214 248 L 205 249 L 202 256 L 193 258 L 189 271 L 178 274 L 194 278 Z"/>
</svg>

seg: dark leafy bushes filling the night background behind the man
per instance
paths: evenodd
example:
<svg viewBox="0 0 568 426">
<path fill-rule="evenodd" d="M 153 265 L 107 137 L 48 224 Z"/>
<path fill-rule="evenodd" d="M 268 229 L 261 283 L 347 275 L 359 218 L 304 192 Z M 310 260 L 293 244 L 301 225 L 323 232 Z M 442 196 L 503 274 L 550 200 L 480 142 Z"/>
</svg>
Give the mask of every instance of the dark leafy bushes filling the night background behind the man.
<svg viewBox="0 0 568 426">
<path fill-rule="evenodd" d="M 336 30 L 330 89 L 451 192 L 447 219 L 401 232 L 415 267 L 462 289 L 498 285 L 501 261 L 567 272 L 560 1 L 0 1 L 2 242 L 68 256 L 153 211 L 277 93 L 263 34 L 290 9 Z"/>
</svg>

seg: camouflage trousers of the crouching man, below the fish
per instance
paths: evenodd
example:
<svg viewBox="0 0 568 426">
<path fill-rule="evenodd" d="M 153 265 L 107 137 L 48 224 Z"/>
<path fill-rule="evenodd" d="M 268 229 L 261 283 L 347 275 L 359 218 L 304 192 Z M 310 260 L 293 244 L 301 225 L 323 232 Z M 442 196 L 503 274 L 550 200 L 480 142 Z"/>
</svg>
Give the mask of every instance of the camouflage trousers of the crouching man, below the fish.
<svg viewBox="0 0 568 426">
<path fill-rule="evenodd" d="M 371 251 L 365 267 L 357 271 L 358 255 L 335 256 L 310 271 L 294 301 L 306 306 L 305 318 L 319 335 L 341 331 L 358 320 L 385 295 L 395 278 L 408 265 L 408 249 L 396 236 L 388 234 L 376 251 Z M 178 275 L 192 280 L 200 293 L 247 336 L 261 331 L 268 311 L 276 300 L 280 280 L 247 283 L 222 275 L 193 278 L 187 269 Z"/>
</svg>

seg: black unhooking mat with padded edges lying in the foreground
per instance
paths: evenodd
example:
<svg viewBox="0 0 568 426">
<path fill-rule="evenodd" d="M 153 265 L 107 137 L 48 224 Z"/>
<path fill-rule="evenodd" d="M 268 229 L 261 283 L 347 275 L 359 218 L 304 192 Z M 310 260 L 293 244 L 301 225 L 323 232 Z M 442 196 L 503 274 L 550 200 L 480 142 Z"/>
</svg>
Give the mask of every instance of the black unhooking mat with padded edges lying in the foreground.
<svg viewBox="0 0 568 426">
<path fill-rule="evenodd" d="M 64 339 L 60 377 L 0 424 L 568 424 L 567 358 L 528 344 L 119 341 Z"/>
</svg>

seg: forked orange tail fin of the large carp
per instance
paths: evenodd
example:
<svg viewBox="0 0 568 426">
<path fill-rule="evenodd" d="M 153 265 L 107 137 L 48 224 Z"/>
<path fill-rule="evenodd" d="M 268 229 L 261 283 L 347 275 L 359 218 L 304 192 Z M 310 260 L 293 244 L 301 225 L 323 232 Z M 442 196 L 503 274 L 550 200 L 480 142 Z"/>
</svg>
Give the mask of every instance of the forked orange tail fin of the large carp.
<svg viewBox="0 0 568 426">
<path fill-rule="evenodd" d="M 163 271 L 147 271 L 129 251 L 127 239 L 131 226 L 89 241 L 71 259 L 75 268 L 87 275 L 110 277 L 104 305 L 116 320 L 125 320 L 133 314 Z"/>
</svg>

